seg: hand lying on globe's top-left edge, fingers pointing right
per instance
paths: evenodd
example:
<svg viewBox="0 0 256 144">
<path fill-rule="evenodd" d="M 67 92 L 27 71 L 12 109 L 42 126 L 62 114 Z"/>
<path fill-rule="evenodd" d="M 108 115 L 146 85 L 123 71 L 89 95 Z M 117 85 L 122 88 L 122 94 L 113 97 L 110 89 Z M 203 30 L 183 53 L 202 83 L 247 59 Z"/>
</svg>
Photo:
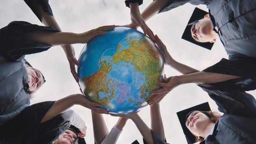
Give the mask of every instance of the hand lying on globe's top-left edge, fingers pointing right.
<svg viewBox="0 0 256 144">
<path fill-rule="evenodd" d="M 98 35 L 105 35 L 107 32 L 107 30 L 112 30 L 115 26 L 101 26 L 92 30 L 89 30 L 87 32 L 84 33 L 79 33 L 79 42 L 80 43 L 87 43 L 89 42 L 91 39 L 93 39 L 94 37 L 98 36 Z"/>
</svg>

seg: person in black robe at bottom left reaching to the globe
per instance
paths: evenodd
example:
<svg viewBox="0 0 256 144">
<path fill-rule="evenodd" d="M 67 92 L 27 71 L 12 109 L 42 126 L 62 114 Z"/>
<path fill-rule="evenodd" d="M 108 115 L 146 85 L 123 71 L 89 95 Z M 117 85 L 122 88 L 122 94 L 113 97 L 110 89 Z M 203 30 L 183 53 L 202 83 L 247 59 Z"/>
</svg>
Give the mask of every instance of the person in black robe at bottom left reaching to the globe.
<svg viewBox="0 0 256 144">
<path fill-rule="evenodd" d="M 90 102 L 84 95 L 73 94 L 57 101 L 46 101 L 26 107 L 11 121 L 1 125 L 1 144 L 52 144 L 57 141 L 73 140 L 65 138 L 63 132 L 73 125 L 78 128 L 78 137 L 86 135 L 85 122 L 72 109 L 73 105 L 81 105 L 98 113 L 108 114 L 99 104 Z M 66 132 L 67 133 L 67 132 Z M 64 137 L 64 138 L 63 138 Z M 79 139 L 84 141 L 84 139 Z M 70 142 L 71 144 L 72 142 Z"/>
</svg>

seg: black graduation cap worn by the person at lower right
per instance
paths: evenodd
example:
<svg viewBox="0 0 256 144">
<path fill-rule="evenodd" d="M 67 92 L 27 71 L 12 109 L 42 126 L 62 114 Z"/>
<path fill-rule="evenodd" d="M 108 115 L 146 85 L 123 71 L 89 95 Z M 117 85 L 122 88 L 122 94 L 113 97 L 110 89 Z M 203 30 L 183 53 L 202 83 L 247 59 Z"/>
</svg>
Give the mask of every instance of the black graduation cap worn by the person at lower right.
<svg viewBox="0 0 256 144">
<path fill-rule="evenodd" d="M 188 109 L 184 109 L 182 111 L 177 112 L 177 116 L 179 118 L 179 122 L 182 125 L 182 130 L 185 134 L 186 140 L 188 144 L 193 144 L 195 143 L 195 136 L 191 134 L 189 129 L 186 127 L 186 119 L 188 118 L 189 114 L 193 111 L 210 111 L 211 108 L 209 106 L 208 102 L 202 103 L 200 105 L 196 105 L 194 107 L 190 107 Z"/>
</svg>

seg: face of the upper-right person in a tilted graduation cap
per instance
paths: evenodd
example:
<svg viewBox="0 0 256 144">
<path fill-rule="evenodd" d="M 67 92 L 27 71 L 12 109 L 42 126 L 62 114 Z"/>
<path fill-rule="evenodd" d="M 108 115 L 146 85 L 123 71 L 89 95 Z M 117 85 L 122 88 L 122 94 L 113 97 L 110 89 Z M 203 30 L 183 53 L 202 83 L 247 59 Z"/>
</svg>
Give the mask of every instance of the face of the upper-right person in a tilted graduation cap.
<svg viewBox="0 0 256 144">
<path fill-rule="evenodd" d="M 191 35 L 197 42 L 215 42 L 218 34 L 214 32 L 208 15 L 200 19 L 191 27 Z"/>
</svg>

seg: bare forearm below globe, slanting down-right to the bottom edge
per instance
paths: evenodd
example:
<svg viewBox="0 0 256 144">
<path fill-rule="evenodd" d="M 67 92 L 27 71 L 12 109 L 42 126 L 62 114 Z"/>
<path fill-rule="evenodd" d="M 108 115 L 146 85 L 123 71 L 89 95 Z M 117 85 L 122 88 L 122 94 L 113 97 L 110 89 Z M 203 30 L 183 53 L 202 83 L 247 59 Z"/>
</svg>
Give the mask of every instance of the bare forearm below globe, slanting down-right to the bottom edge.
<svg viewBox="0 0 256 144">
<path fill-rule="evenodd" d="M 146 140 L 147 144 L 154 144 L 154 139 L 151 134 L 150 128 L 144 123 L 139 115 L 136 114 L 135 117 L 131 118 L 138 130 L 140 131 L 142 137 Z"/>
</svg>

